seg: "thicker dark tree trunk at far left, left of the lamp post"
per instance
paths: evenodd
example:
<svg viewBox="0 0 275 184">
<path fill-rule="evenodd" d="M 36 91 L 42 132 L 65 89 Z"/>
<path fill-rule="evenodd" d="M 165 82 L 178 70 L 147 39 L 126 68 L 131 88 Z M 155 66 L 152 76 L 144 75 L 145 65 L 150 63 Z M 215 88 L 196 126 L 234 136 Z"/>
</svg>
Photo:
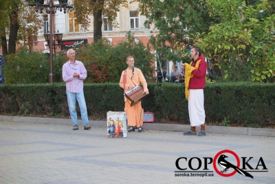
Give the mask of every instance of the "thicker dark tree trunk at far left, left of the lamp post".
<svg viewBox="0 0 275 184">
<path fill-rule="evenodd" d="M 19 29 L 18 24 L 18 7 L 10 14 L 10 37 L 8 41 L 8 54 L 14 54 L 17 50 L 17 32 Z"/>
</svg>

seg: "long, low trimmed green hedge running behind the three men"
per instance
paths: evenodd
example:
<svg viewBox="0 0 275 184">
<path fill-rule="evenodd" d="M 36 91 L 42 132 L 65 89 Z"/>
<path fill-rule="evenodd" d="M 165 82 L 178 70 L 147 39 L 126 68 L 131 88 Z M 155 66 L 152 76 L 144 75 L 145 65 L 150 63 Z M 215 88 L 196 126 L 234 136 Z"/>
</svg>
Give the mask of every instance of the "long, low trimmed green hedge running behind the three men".
<svg viewBox="0 0 275 184">
<path fill-rule="evenodd" d="M 157 121 L 189 124 L 184 85 L 148 83 L 150 94 L 142 106 L 154 112 Z M 106 117 L 107 111 L 123 111 L 123 90 L 118 83 L 85 83 L 85 99 L 90 119 Z M 1 85 L 0 113 L 13 115 L 69 115 L 65 83 Z M 230 123 L 244 127 L 274 126 L 275 84 L 214 83 L 204 90 L 206 122 Z M 79 108 L 78 108 L 79 112 Z"/>
</svg>

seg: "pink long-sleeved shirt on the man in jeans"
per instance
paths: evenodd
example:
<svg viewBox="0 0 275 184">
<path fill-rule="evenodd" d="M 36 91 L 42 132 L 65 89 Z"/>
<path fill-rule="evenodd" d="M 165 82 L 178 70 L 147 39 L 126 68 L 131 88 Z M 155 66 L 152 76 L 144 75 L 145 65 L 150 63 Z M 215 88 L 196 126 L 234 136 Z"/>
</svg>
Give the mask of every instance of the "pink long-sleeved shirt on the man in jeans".
<svg viewBox="0 0 275 184">
<path fill-rule="evenodd" d="M 79 74 L 74 77 L 74 72 Z M 69 92 L 83 91 L 83 80 L 87 77 L 87 70 L 81 61 L 76 61 L 74 64 L 66 62 L 62 68 L 63 81 L 66 82 L 66 90 Z"/>
</svg>

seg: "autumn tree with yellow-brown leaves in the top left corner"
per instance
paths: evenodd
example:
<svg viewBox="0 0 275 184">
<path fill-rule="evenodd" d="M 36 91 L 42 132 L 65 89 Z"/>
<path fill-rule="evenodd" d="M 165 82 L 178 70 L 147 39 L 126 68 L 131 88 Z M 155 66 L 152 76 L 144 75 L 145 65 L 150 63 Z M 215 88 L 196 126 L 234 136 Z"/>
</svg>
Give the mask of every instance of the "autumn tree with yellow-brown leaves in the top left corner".
<svg viewBox="0 0 275 184">
<path fill-rule="evenodd" d="M 28 37 L 36 35 L 41 28 L 42 21 L 33 16 L 36 12 L 28 6 L 30 1 L 0 0 L 0 43 L 3 55 L 15 53 L 19 40 L 28 41 Z"/>
</svg>

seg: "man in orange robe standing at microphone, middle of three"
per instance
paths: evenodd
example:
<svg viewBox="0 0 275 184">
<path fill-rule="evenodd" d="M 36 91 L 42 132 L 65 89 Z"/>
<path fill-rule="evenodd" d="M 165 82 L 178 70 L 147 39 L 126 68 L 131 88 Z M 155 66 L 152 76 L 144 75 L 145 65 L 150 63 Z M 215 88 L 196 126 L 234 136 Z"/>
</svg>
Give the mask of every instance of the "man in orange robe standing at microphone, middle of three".
<svg viewBox="0 0 275 184">
<path fill-rule="evenodd" d="M 135 86 L 142 83 L 144 93 L 149 94 L 146 80 L 142 74 L 142 71 L 138 68 L 133 68 L 135 61 L 133 57 L 129 56 L 126 59 L 126 63 L 128 65 L 128 68 L 126 69 L 126 82 L 125 82 L 125 92 L 128 92 L 129 90 L 133 90 Z M 124 71 L 121 74 L 120 77 L 120 87 L 124 88 Z M 130 126 L 130 129 L 128 132 L 135 132 L 135 128 L 138 128 L 138 132 L 143 132 L 143 109 L 142 109 L 142 103 L 136 103 L 135 105 L 131 106 L 129 101 L 124 96 L 124 102 L 125 107 L 124 111 L 127 115 L 127 122 Z"/>
</svg>

